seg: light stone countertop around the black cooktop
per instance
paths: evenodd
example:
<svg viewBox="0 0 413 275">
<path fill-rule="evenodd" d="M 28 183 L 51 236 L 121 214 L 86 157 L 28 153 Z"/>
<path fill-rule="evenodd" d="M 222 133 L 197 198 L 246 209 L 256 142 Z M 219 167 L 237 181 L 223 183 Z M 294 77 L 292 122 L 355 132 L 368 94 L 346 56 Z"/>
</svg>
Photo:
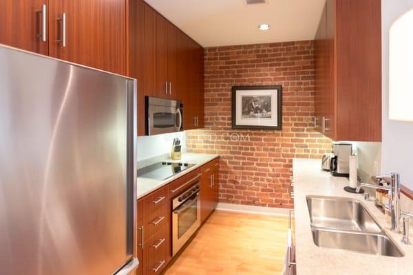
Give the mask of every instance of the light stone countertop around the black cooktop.
<svg viewBox="0 0 413 275">
<path fill-rule="evenodd" d="M 200 166 L 206 164 L 207 162 L 210 162 L 211 160 L 219 157 L 220 155 L 211 155 L 211 154 L 194 154 L 194 153 L 183 153 L 182 158 L 179 160 L 172 160 L 172 159 L 167 159 L 167 162 L 188 162 L 190 164 L 195 164 L 195 166 L 192 166 L 191 168 L 188 168 L 186 170 L 183 170 L 181 173 L 174 175 L 173 177 L 169 177 L 165 180 L 159 180 L 159 179 L 147 179 L 144 177 L 138 177 L 137 179 L 137 192 L 138 192 L 138 199 L 141 197 L 145 197 L 148 195 L 150 192 L 153 192 L 154 190 L 161 188 L 162 186 L 165 186 L 166 184 L 169 184 L 169 182 L 173 181 L 174 179 L 178 179 L 179 177 L 182 177 L 183 175 L 191 172 L 192 170 L 195 170 L 196 168 L 199 168 Z M 147 165 L 151 165 L 152 163 L 148 163 Z"/>
</svg>

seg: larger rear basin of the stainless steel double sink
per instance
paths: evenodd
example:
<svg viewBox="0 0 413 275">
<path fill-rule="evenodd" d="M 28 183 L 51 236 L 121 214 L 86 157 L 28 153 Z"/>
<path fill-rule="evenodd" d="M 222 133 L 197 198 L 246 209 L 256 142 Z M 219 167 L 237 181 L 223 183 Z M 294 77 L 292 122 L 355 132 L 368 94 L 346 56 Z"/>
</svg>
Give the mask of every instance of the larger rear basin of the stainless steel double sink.
<svg viewBox="0 0 413 275">
<path fill-rule="evenodd" d="M 307 197 L 311 224 L 319 228 L 381 232 L 379 224 L 360 201 L 339 197 Z"/>
</svg>

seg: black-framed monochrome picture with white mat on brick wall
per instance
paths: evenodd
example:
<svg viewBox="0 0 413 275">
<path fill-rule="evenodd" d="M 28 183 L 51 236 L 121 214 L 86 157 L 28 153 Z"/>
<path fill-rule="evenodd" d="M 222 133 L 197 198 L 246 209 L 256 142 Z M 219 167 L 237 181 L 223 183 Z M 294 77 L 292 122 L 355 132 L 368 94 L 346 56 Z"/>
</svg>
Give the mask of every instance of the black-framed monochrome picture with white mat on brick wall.
<svg viewBox="0 0 413 275">
<path fill-rule="evenodd" d="M 282 129 L 282 86 L 232 87 L 233 129 Z"/>
</svg>

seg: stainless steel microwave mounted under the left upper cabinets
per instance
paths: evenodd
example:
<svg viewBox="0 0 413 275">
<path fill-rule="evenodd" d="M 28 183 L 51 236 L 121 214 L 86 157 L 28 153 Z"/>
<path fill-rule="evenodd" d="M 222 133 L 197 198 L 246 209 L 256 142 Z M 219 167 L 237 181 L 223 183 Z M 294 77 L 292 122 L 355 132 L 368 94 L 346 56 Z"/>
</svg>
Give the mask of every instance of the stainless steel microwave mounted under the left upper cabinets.
<svg viewBox="0 0 413 275">
<path fill-rule="evenodd" d="M 146 98 L 147 134 L 182 131 L 182 103 L 165 98 Z"/>
</svg>

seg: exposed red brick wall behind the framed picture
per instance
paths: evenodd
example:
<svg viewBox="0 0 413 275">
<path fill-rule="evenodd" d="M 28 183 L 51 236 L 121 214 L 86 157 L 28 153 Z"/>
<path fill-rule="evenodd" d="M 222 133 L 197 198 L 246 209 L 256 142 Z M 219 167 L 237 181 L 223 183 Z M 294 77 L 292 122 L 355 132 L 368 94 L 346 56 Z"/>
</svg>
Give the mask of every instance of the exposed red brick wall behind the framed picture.
<svg viewBox="0 0 413 275">
<path fill-rule="evenodd" d="M 319 158 L 330 140 L 313 130 L 313 41 L 211 47 L 205 50 L 205 128 L 187 132 L 187 149 L 216 153 L 220 201 L 292 206 L 293 157 Z M 231 87 L 282 85 L 282 130 L 231 129 Z"/>
</svg>

